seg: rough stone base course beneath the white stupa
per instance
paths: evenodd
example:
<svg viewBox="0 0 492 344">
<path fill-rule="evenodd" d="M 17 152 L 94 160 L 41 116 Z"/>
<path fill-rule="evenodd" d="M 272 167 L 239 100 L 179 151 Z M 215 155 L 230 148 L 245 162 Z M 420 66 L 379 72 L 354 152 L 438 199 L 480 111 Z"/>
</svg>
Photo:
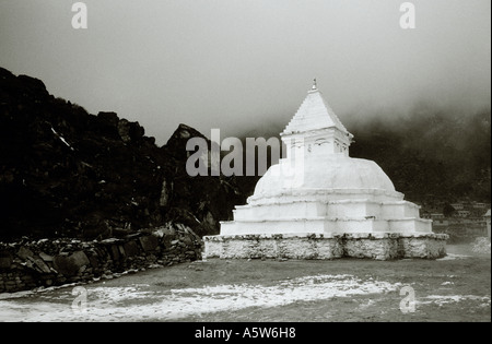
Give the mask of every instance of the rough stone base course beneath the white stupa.
<svg viewBox="0 0 492 344">
<path fill-rule="evenodd" d="M 223 259 L 436 259 L 446 256 L 447 238 L 445 234 L 402 233 L 218 235 L 203 237 L 203 256 Z"/>
</svg>

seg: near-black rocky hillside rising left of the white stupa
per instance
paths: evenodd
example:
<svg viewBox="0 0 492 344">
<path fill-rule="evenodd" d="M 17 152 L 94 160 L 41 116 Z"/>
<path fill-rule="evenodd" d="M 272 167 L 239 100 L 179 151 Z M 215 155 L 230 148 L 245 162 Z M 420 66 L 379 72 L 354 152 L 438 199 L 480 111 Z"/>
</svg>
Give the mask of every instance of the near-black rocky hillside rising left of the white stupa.
<svg viewBox="0 0 492 344">
<path fill-rule="evenodd" d="M 234 178 L 189 177 L 179 126 L 163 147 L 138 122 L 90 115 L 0 68 L 0 239 L 104 238 L 180 222 L 219 232 L 245 197 Z"/>
</svg>

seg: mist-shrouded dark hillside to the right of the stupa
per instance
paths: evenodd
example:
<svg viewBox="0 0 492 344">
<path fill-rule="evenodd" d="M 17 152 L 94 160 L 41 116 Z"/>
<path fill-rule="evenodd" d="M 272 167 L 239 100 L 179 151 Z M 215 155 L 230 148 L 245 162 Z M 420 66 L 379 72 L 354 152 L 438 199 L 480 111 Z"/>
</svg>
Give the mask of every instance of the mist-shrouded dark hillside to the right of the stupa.
<svg viewBox="0 0 492 344">
<path fill-rule="evenodd" d="M 424 107 L 406 118 L 354 126 L 351 156 L 377 162 L 418 202 L 491 198 L 491 114 Z"/>
</svg>

